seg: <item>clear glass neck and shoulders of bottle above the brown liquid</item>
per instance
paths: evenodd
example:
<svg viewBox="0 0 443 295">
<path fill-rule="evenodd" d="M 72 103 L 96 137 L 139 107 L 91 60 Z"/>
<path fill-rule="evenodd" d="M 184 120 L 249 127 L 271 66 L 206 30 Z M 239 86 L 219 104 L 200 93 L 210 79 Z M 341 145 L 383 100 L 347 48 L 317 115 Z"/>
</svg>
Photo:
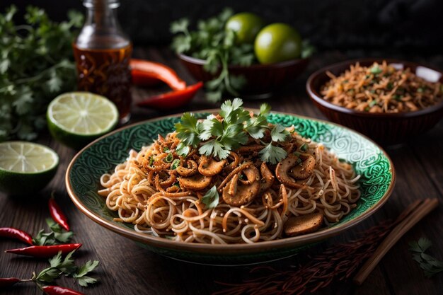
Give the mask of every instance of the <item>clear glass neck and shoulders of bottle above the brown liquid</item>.
<svg viewBox="0 0 443 295">
<path fill-rule="evenodd" d="M 84 49 L 122 48 L 130 45 L 129 38 L 117 19 L 118 1 L 86 0 L 86 21 L 76 39 L 77 47 Z"/>
</svg>

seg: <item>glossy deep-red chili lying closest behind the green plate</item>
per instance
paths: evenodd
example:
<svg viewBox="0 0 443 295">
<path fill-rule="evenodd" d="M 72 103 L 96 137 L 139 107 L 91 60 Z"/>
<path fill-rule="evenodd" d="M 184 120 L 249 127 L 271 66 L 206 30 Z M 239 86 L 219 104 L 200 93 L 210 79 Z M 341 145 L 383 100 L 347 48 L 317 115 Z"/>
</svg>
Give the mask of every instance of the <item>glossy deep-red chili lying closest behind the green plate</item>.
<svg viewBox="0 0 443 295">
<path fill-rule="evenodd" d="M 137 103 L 137 105 L 139 107 L 157 108 L 161 110 L 178 108 L 185 105 L 185 103 L 188 103 L 195 96 L 195 93 L 202 88 L 202 86 L 203 82 L 198 82 L 194 85 L 186 87 L 183 90 L 162 93 L 158 96 L 151 96 L 150 98 Z"/>
</svg>

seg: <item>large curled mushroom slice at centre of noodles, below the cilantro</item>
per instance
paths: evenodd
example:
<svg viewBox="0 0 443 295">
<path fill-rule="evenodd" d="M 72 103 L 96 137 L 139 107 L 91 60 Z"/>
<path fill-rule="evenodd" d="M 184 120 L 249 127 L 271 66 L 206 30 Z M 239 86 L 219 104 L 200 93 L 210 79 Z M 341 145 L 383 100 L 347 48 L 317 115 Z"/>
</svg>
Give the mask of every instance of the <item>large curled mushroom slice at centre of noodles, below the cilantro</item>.
<svg viewBox="0 0 443 295">
<path fill-rule="evenodd" d="M 251 165 L 250 167 L 243 170 L 244 175 L 246 175 L 248 185 L 244 185 L 238 182 L 238 174 L 229 181 L 229 183 L 223 189 L 223 199 L 226 204 L 231 206 L 241 206 L 258 195 L 260 190 L 260 176 L 258 174 L 258 169 Z"/>
</svg>

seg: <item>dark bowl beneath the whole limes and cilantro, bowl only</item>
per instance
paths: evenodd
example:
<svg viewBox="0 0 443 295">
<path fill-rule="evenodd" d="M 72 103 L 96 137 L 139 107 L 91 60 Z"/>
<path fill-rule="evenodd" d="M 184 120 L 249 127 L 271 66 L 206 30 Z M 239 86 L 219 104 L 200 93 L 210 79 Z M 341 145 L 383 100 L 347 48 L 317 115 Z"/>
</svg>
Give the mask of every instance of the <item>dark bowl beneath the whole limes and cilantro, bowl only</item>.
<svg viewBox="0 0 443 295">
<path fill-rule="evenodd" d="M 178 57 L 195 79 L 206 82 L 216 76 L 203 69 L 205 60 L 184 54 L 178 54 Z M 245 77 L 246 85 L 240 91 L 242 96 L 246 96 L 243 98 L 270 98 L 272 93 L 301 74 L 308 63 L 309 59 L 294 59 L 277 64 L 229 66 L 229 73 Z"/>
</svg>

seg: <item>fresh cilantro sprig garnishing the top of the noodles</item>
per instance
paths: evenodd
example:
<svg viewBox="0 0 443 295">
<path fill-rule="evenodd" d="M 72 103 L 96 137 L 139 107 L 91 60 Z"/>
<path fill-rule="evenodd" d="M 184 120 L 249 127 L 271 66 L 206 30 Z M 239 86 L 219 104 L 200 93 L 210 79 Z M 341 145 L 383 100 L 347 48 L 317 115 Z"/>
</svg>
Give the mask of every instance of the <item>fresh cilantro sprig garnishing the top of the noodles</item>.
<svg viewBox="0 0 443 295">
<path fill-rule="evenodd" d="M 185 112 L 181 122 L 176 124 L 177 137 L 181 140 L 177 153 L 186 156 L 190 147 L 199 148 L 200 154 L 227 158 L 229 151 L 238 149 L 248 142 L 248 136 L 261 139 L 265 146 L 260 151 L 262 161 L 272 164 L 286 158 L 287 152 L 277 146 L 285 141 L 289 132 L 281 125 L 269 125 L 267 115 L 270 106 L 264 103 L 258 114 L 252 114 L 243 108 L 240 98 L 226 100 L 221 107 L 219 117 L 209 115 L 205 120 L 198 121 L 190 112 Z M 265 142 L 265 132 L 270 130 L 270 142 Z"/>
</svg>

